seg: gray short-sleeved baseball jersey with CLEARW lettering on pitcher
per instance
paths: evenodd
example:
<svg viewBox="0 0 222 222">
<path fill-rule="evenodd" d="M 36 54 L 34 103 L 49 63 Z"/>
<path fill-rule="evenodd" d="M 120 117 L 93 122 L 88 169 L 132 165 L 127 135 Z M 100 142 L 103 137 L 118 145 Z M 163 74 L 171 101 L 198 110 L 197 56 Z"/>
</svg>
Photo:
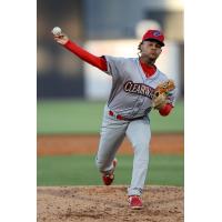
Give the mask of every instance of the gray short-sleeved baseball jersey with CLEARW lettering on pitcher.
<svg viewBox="0 0 222 222">
<path fill-rule="evenodd" d="M 168 80 L 167 75 L 157 69 L 147 78 L 139 58 L 104 57 L 108 62 L 107 73 L 112 75 L 112 89 L 108 108 L 122 117 L 132 119 L 147 115 L 151 111 L 154 89 Z M 175 90 L 169 95 L 174 104 Z"/>
</svg>

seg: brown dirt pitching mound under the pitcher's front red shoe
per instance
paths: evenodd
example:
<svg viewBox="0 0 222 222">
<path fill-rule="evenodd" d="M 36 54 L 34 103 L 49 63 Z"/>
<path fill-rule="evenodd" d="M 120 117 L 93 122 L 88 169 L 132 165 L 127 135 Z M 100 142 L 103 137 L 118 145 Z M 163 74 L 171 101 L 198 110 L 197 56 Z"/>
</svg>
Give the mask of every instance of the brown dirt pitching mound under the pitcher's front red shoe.
<svg viewBox="0 0 222 222">
<path fill-rule="evenodd" d="M 131 210 L 127 186 L 41 186 L 37 221 L 183 221 L 183 188 L 145 186 L 142 200 L 142 210 Z"/>
</svg>

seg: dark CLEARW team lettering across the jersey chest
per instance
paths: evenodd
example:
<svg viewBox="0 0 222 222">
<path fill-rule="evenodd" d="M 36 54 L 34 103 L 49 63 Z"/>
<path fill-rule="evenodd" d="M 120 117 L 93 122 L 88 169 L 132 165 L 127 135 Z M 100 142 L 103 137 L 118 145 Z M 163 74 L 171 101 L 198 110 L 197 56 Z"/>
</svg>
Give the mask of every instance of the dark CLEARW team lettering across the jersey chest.
<svg viewBox="0 0 222 222">
<path fill-rule="evenodd" d="M 134 83 L 133 81 L 127 81 L 123 85 L 125 92 L 141 94 L 148 97 L 152 100 L 154 94 L 154 89 L 143 84 L 143 83 Z"/>
</svg>

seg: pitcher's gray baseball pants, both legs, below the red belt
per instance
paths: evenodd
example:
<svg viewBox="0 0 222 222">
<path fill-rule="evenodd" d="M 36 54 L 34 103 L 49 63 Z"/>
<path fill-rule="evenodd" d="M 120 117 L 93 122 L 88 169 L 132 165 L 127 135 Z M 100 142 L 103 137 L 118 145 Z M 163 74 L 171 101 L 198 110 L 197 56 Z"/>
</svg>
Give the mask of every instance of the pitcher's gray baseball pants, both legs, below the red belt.
<svg viewBox="0 0 222 222">
<path fill-rule="evenodd" d="M 149 164 L 149 145 L 151 139 L 150 122 L 148 118 L 133 121 L 117 120 L 109 115 L 105 105 L 101 127 L 101 138 L 95 163 L 100 172 L 112 170 L 112 161 L 124 137 L 130 140 L 133 151 L 133 170 L 128 195 L 141 195 Z"/>
</svg>

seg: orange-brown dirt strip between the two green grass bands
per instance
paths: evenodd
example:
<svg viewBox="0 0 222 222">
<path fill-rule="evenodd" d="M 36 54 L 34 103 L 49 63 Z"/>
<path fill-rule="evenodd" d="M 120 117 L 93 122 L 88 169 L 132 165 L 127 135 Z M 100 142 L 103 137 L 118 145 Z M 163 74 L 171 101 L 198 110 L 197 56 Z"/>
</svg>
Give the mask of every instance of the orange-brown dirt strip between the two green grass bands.
<svg viewBox="0 0 222 222">
<path fill-rule="evenodd" d="M 37 154 L 94 154 L 99 144 L 99 135 L 38 135 Z M 151 153 L 183 154 L 183 133 L 153 134 L 150 145 Z M 125 139 L 119 153 L 132 153 L 130 142 Z"/>
</svg>

